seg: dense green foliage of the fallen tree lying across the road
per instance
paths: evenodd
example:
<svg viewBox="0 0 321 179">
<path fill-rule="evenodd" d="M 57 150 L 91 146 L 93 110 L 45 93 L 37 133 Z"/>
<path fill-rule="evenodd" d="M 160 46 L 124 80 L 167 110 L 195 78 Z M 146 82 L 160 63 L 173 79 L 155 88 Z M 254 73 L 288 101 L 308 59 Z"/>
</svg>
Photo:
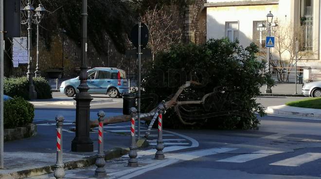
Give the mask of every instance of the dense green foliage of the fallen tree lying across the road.
<svg viewBox="0 0 321 179">
<path fill-rule="evenodd" d="M 228 39 L 173 46 L 169 52 L 157 56 L 155 69 L 143 78 L 144 93 L 157 94 L 158 102 L 169 100 L 186 81 L 196 81 L 202 85 L 185 89 L 178 101 L 200 101 L 205 96 L 204 103 L 167 110 L 164 126 L 257 128 L 259 120 L 254 112 L 264 115 L 264 111 L 255 96 L 267 81 L 261 73 L 264 65 L 256 60 L 257 52 L 254 44 L 244 49 Z M 145 111 L 150 110 L 146 107 L 149 103 L 150 99 L 143 100 Z"/>
</svg>

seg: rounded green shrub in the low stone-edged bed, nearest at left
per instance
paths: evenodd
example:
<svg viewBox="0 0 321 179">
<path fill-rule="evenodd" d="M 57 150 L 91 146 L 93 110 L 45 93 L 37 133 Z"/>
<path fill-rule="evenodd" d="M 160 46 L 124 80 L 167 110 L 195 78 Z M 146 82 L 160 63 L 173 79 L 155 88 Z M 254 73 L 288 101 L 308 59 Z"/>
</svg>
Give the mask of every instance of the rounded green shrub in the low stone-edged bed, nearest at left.
<svg viewBox="0 0 321 179">
<path fill-rule="evenodd" d="M 16 128 L 32 123 L 35 117 L 34 111 L 34 105 L 22 97 L 14 97 L 14 99 L 5 101 L 3 105 L 4 128 Z"/>
</svg>

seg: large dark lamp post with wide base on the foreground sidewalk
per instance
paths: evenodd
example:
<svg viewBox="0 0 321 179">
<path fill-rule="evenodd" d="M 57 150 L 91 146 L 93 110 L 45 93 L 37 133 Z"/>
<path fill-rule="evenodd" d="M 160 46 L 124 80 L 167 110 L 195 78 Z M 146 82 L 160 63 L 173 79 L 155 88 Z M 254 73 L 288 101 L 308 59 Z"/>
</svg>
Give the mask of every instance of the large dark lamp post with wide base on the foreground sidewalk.
<svg viewBox="0 0 321 179">
<path fill-rule="evenodd" d="M 71 141 L 71 151 L 73 152 L 92 152 L 93 142 L 89 137 L 89 115 L 90 101 L 87 85 L 87 0 L 82 0 L 82 55 L 79 73 L 80 85 L 79 93 L 74 98 L 76 100 L 76 136 Z"/>
</svg>

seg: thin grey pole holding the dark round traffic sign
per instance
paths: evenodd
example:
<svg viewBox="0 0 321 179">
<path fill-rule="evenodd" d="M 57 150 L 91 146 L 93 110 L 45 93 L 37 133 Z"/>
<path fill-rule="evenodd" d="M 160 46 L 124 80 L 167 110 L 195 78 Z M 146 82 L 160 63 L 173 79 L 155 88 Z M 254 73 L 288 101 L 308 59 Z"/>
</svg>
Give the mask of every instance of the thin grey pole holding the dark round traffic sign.
<svg viewBox="0 0 321 179">
<path fill-rule="evenodd" d="M 138 111 L 137 111 L 137 121 L 138 121 L 138 133 L 137 133 L 137 138 L 140 139 L 141 138 L 141 58 L 142 58 L 142 23 L 139 22 L 138 23 Z"/>
</svg>

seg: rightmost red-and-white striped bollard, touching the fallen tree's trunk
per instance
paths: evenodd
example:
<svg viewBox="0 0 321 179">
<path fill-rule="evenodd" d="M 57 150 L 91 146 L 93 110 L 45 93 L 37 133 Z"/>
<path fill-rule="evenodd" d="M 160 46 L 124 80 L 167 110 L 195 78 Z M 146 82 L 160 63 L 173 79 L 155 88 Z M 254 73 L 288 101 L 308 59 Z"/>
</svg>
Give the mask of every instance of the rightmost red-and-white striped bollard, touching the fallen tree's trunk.
<svg viewBox="0 0 321 179">
<path fill-rule="evenodd" d="M 162 127 L 162 117 L 163 117 L 163 109 L 160 109 L 159 115 L 158 115 L 158 138 L 157 138 L 157 145 L 156 149 L 157 152 L 155 154 L 155 159 L 156 160 L 163 160 L 165 159 L 164 156 L 164 142 L 163 142 L 163 127 Z"/>
</svg>

